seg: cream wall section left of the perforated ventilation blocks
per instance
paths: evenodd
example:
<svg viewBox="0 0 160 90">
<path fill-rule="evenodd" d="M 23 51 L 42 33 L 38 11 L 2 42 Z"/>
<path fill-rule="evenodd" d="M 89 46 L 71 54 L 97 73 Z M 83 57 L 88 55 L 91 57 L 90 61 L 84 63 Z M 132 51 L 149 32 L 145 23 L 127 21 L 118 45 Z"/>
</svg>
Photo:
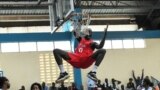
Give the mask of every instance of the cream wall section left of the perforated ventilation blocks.
<svg viewBox="0 0 160 90">
<path fill-rule="evenodd" d="M 18 90 L 21 85 L 29 90 L 33 82 L 40 82 L 39 53 L 1 53 L 1 69 L 10 83 L 10 90 Z"/>
</svg>

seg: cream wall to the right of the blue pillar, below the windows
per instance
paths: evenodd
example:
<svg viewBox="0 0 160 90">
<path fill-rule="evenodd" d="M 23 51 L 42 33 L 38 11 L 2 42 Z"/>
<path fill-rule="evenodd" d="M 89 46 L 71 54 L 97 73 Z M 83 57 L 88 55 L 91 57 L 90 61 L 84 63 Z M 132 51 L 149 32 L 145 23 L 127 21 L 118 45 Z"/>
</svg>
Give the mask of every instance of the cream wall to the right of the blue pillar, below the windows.
<svg viewBox="0 0 160 90">
<path fill-rule="evenodd" d="M 104 82 L 104 78 L 118 79 L 124 85 L 128 78 L 132 77 L 131 71 L 135 70 L 135 75 L 141 75 L 144 68 L 145 75 L 154 76 L 160 80 L 160 39 L 146 40 L 145 49 L 116 49 L 107 50 L 106 56 L 97 71 L 98 78 Z M 92 69 L 82 70 L 82 82 L 86 87 L 87 73 Z"/>
</svg>

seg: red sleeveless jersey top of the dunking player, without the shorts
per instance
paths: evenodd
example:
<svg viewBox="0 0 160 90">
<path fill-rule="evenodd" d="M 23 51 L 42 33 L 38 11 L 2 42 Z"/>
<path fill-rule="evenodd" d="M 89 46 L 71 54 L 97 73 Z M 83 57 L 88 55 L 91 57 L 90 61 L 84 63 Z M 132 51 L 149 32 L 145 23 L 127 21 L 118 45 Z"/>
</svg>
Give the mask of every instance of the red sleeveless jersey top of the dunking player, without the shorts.
<svg viewBox="0 0 160 90">
<path fill-rule="evenodd" d="M 75 50 L 75 53 L 82 57 L 91 56 L 93 53 L 93 49 L 91 48 L 92 42 L 93 40 L 86 40 L 82 38 Z"/>
</svg>

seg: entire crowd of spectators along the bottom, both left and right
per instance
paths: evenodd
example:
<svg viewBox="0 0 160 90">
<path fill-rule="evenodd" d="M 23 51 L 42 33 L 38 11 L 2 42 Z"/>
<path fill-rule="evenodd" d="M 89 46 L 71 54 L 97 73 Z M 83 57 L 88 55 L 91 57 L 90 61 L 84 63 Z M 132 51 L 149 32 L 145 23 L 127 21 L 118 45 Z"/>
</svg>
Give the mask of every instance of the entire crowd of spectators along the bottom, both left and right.
<svg viewBox="0 0 160 90">
<path fill-rule="evenodd" d="M 155 84 L 152 82 L 149 76 L 144 77 L 144 70 L 142 70 L 142 75 L 135 76 L 134 71 L 132 71 L 132 78 L 129 78 L 127 85 L 122 84 L 121 81 L 114 78 L 111 79 L 109 83 L 108 78 L 104 79 L 104 83 L 101 83 L 101 80 L 98 82 L 92 81 L 88 78 L 87 90 L 160 90 L 160 83 Z M 154 83 L 154 84 L 153 84 Z M 0 77 L 0 90 L 9 90 L 10 83 L 6 77 Z M 19 90 L 26 90 L 25 86 L 22 85 Z M 75 83 L 72 83 L 70 86 L 65 85 L 64 82 L 61 82 L 59 86 L 56 86 L 52 82 L 51 86 L 48 87 L 45 82 L 33 83 L 30 87 L 30 90 L 84 90 L 83 87 L 78 89 Z"/>
</svg>

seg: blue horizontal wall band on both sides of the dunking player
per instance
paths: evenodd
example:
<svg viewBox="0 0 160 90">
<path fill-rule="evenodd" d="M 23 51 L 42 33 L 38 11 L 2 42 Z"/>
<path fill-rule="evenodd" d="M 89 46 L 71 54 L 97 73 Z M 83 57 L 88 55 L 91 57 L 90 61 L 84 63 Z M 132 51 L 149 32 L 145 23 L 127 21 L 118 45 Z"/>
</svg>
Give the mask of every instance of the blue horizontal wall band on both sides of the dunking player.
<svg viewBox="0 0 160 90">
<path fill-rule="evenodd" d="M 93 39 L 101 39 L 104 32 L 93 32 Z M 29 42 L 29 41 L 64 41 L 71 40 L 71 32 L 56 33 L 10 33 L 0 34 L 0 42 Z M 160 38 L 160 30 L 155 31 L 119 31 L 108 32 L 106 39 L 128 38 Z"/>
</svg>

